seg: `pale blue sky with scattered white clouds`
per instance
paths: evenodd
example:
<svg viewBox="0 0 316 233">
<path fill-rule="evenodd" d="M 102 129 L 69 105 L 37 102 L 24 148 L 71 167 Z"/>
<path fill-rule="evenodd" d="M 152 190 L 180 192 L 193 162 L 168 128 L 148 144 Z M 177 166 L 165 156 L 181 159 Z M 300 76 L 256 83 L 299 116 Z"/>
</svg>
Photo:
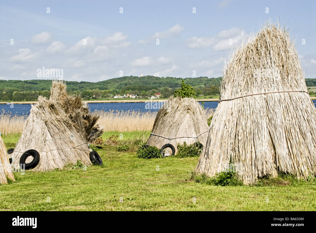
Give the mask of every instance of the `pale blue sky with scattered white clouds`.
<svg viewBox="0 0 316 233">
<path fill-rule="evenodd" d="M 231 49 L 269 19 L 286 24 L 305 77 L 315 78 L 315 12 L 314 1 L 1 2 L 0 78 L 37 79 L 42 67 L 69 81 L 218 77 Z"/>
</svg>

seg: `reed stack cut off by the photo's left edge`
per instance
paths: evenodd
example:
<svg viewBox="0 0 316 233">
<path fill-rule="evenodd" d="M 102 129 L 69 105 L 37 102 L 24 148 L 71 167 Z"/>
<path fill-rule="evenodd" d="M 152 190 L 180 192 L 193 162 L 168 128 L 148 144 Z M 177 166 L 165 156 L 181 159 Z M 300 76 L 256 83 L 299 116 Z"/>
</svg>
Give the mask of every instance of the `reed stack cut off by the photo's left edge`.
<svg viewBox="0 0 316 233">
<path fill-rule="evenodd" d="M 7 184 L 7 178 L 15 181 L 12 167 L 9 162 L 7 148 L 5 147 L 0 134 L 0 184 Z"/>
</svg>

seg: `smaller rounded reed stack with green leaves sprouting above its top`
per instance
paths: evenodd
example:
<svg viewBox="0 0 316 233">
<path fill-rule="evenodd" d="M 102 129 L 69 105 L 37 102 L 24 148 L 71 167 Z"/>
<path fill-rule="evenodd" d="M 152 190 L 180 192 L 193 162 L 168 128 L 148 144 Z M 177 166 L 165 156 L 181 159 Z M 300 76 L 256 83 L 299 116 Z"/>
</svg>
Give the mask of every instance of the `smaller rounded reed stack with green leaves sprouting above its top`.
<svg viewBox="0 0 316 233">
<path fill-rule="evenodd" d="M 177 152 L 178 143 L 203 145 L 207 129 L 204 110 L 195 99 L 170 97 L 157 113 L 147 145 L 161 148 L 170 143 Z"/>
</svg>

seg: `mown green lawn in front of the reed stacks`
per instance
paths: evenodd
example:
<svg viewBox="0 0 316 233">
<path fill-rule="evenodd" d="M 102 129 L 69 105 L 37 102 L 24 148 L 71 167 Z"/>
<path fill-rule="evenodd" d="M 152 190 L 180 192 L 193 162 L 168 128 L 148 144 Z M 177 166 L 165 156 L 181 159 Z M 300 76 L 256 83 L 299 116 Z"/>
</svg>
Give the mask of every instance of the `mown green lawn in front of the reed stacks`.
<svg viewBox="0 0 316 233">
<path fill-rule="evenodd" d="M 110 133 L 111 134 L 111 133 Z M 108 135 L 110 135 L 108 134 Z M 18 137 L 4 137 L 14 146 Z M 104 146 L 103 165 L 15 173 L 0 185 L 1 210 L 316 210 L 315 182 L 287 186 L 210 186 L 192 181 L 197 158 L 136 158 Z M 121 201 L 120 201 L 121 200 Z"/>
</svg>

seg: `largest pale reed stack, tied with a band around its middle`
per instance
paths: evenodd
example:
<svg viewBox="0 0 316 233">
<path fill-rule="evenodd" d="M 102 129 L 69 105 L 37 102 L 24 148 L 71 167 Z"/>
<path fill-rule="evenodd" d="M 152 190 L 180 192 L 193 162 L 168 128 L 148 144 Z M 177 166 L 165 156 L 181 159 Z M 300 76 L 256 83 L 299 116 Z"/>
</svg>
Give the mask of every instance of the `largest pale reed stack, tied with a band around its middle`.
<svg viewBox="0 0 316 233">
<path fill-rule="evenodd" d="M 266 24 L 225 64 L 221 99 L 196 167 L 215 176 L 234 167 L 244 184 L 279 171 L 315 174 L 316 108 L 289 33 Z M 303 92 L 280 92 L 303 91 Z M 232 164 L 230 163 L 232 162 Z"/>
</svg>

